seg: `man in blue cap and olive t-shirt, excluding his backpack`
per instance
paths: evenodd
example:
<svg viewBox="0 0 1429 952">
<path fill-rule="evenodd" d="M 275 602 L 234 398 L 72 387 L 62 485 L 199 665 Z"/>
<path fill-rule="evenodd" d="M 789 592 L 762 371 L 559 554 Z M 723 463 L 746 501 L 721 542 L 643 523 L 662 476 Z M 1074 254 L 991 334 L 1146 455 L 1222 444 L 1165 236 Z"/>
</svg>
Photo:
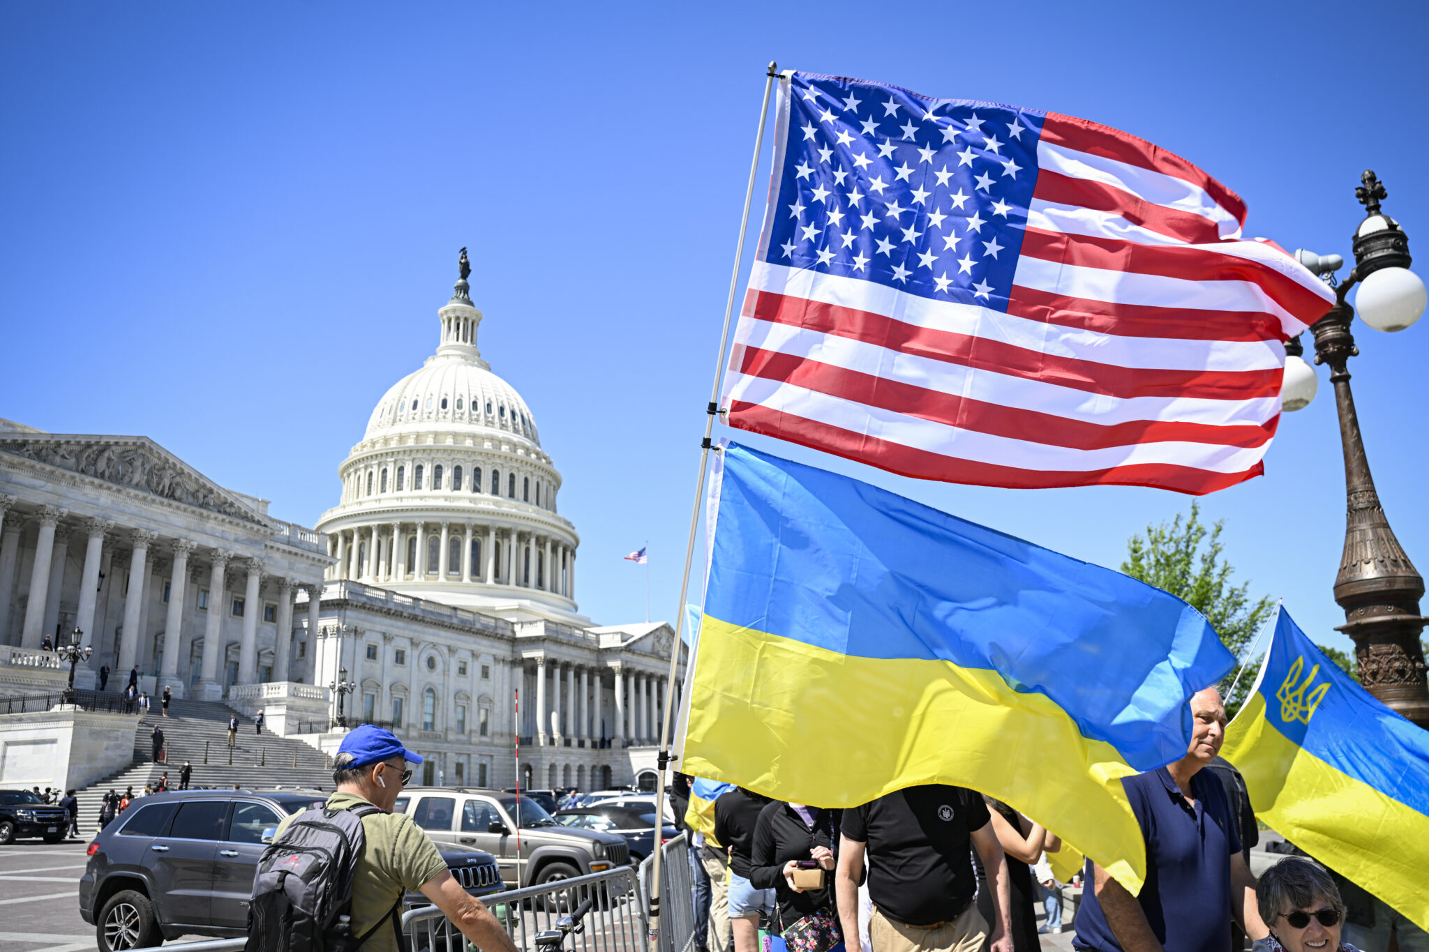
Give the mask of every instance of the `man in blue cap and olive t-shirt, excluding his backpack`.
<svg viewBox="0 0 1429 952">
<path fill-rule="evenodd" d="M 517 952 L 496 916 L 452 878 L 426 832 L 410 816 L 392 812 L 403 784 L 412 779 L 407 762 L 420 764 L 422 756 L 404 749 L 392 731 L 372 724 L 343 738 L 333 761 L 337 791 L 327 798 L 327 808 L 372 804 L 382 811 L 362 821 L 366 842 L 353 871 L 352 933 L 373 929 L 402 896 L 420 889 L 483 952 Z M 283 822 L 279 835 L 293 819 Z M 400 915 L 393 916 L 393 928 L 374 929 L 362 952 L 399 952 L 399 921 Z"/>
</svg>

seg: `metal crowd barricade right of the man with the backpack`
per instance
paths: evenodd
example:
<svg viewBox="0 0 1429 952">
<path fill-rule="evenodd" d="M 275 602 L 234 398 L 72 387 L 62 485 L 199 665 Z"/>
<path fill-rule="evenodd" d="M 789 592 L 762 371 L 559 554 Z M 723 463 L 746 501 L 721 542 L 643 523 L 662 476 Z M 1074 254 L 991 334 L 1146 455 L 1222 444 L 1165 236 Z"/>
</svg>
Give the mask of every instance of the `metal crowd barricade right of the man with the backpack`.
<svg viewBox="0 0 1429 952">
<path fill-rule="evenodd" d="M 522 952 L 534 952 L 536 933 L 554 929 L 556 919 L 586 899 L 592 901 L 590 912 L 582 919 L 583 929 L 566 941 L 564 952 L 647 952 L 644 898 L 629 866 L 482 896 Z M 409 952 L 467 952 L 466 938 L 436 906 L 404 913 L 402 931 Z"/>
</svg>

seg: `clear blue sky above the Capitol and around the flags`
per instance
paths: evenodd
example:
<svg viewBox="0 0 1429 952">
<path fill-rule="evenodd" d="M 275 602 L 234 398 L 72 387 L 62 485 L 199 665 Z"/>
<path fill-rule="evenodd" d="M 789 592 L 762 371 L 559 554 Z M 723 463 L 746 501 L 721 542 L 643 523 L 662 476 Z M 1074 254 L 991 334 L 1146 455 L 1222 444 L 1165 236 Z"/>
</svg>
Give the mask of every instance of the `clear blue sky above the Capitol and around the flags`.
<svg viewBox="0 0 1429 952">
<path fill-rule="evenodd" d="M 312 525 L 470 248 L 479 344 L 582 534 L 582 609 L 676 611 L 765 64 L 1092 118 L 1349 257 L 1375 168 L 1429 261 L 1420 4 L 0 3 L 0 417 L 143 434 Z M 766 140 L 767 153 L 767 140 Z M 766 156 L 767 160 L 767 156 Z M 766 171 L 760 173 L 760 191 Z M 752 226 L 752 247 L 757 231 Z M 747 255 L 746 255 L 747 264 Z M 1429 321 L 1359 325 L 1365 441 L 1429 568 Z M 726 431 L 726 435 L 732 435 Z M 1116 567 L 1189 497 L 917 482 L 759 438 Z M 1348 647 L 1328 374 L 1266 477 L 1205 498 L 1252 592 Z"/>
</svg>

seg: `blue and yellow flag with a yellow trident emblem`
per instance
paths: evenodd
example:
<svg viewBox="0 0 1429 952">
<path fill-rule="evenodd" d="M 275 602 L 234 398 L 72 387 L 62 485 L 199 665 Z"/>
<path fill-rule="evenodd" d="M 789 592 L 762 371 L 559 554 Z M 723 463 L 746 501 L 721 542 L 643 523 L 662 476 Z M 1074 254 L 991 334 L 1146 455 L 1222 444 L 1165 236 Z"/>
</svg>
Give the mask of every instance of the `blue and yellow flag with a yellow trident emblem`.
<svg viewBox="0 0 1429 952">
<path fill-rule="evenodd" d="M 1256 816 L 1429 929 L 1429 731 L 1372 698 L 1285 608 L 1220 755 Z"/>
</svg>

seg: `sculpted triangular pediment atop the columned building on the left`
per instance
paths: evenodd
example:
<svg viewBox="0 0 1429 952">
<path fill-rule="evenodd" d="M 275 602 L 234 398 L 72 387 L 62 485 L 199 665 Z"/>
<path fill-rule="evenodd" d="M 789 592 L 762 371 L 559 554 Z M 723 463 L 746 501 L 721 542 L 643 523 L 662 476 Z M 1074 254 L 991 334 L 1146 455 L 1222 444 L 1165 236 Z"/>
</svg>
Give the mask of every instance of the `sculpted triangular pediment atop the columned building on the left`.
<svg viewBox="0 0 1429 952">
<path fill-rule="evenodd" d="M 101 442 L 64 437 L 27 437 L 0 441 L 0 454 L 10 454 L 69 470 L 80 475 L 126 485 L 164 500 L 210 510 L 234 518 L 257 517 L 149 440 Z"/>
</svg>

